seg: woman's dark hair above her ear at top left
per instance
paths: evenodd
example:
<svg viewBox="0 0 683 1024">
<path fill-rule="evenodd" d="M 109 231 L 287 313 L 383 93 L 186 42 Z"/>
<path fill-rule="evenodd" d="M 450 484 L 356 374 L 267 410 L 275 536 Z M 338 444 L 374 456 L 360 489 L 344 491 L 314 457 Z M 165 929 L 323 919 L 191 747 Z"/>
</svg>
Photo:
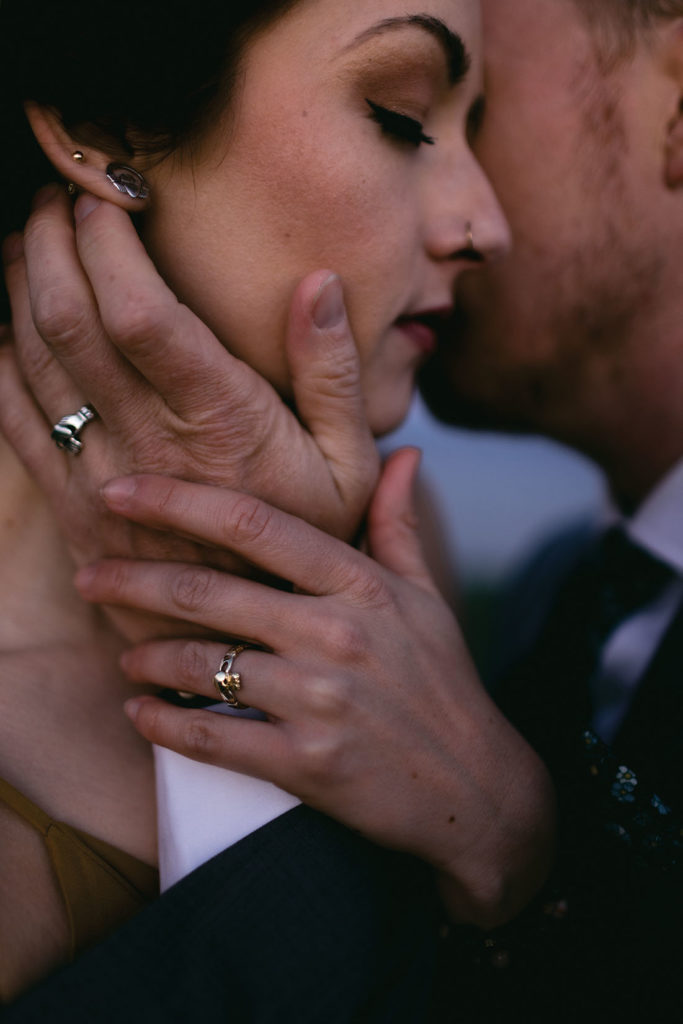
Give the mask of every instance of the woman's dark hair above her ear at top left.
<svg viewBox="0 0 683 1024">
<path fill-rule="evenodd" d="M 190 143 L 228 99 L 246 43 L 297 0 L 0 0 L 0 239 L 55 172 L 25 100 L 75 140 L 148 163 Z M 8 318 L 4 285 L 0 323 Z"/>
</svg>

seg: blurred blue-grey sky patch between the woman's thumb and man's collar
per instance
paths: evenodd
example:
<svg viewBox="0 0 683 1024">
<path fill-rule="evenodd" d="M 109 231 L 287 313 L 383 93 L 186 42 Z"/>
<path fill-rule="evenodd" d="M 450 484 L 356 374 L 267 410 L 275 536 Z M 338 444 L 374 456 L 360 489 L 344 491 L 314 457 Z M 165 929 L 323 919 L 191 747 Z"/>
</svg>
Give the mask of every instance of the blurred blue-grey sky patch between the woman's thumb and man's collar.
<svg viewBox="0 0 683 1024">
<path fill-rule="evenodd" d="M 419 399 L 382 450 L 400 444 L 424 452 L 423 473 L 466 584 L 503 582 L 544 536 L 604 507 L 603 478 L 588 460 L 541 438 L 445 427 Z"/>
</svg>

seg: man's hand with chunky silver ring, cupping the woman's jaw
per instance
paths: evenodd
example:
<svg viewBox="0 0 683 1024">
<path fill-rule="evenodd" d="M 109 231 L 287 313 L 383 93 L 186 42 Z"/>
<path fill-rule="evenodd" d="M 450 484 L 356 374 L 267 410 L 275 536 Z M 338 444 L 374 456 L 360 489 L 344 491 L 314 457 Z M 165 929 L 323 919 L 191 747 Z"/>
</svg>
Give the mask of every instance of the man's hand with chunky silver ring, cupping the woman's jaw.
<svg viewBox="0 0 683 1024">
<path fill-rule="evenodd" d="M 240 488 L 353 537 L 379 462 L 338 279 L 310 274 L 292 302 L 288 357 L 302 427 L 175 299 L 127 214 L 90 196 L 75 214 L 76 225 L 63 190 L 48 186 L 24 245 L 13 236 L 5 246 L 15 344 L 0 350 L 0 428 L 48 496 L 77 564 L 102 554 L 195 558 L 188 545 L 169 547 L 108 512 L 100 485 L 130 472 Z M 99 420 L 75 459 L 55 449 L 50 428 L 85 402 Z"/>
</svg>

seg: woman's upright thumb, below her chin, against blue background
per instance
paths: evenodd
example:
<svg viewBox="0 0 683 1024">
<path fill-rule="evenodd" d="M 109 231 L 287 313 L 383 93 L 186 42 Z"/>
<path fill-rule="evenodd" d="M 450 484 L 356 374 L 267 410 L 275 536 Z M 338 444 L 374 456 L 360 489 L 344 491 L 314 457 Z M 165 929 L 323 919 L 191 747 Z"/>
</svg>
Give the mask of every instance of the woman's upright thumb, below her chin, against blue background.
<svg viewBox="0 0 683 1024">
<path fill-rule="evenodd" d="M 415 507 L 418 449 L 399 449 L 387 459 L 368 513 L 370 551 L 381 565 L 436 594 L 420 543 Z"/>
</svg>

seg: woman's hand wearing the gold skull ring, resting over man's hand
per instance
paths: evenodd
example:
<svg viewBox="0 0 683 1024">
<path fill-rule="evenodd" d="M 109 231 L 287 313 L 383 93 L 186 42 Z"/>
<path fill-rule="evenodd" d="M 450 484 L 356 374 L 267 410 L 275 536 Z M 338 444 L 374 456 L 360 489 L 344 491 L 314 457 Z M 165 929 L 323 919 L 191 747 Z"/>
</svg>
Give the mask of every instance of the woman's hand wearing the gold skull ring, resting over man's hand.
<svg viewBox="0 0 683 1024">
<path fill-rule="evenodd" d="M 553 797 L 544 767 L 481 686 L 425 569 L 409 497 L 413 452 L 389 460 L 371 507 L 379 563 L 253 498 L 160 477 L 114 481 L 112 511 L 226 547 L 289 580 L 284 593 L 205 567 L 127 561 L 82 570 L 88 600 L 125 604 L 259 645 L 240 698 L 267 721 L 129 707 L 147 739 L 270 779 L 374 840 L 433 864 L 454 915 L 484 927 L 544 881 Z M 131 679 L 215 695 L 225 643 L 128 652 Z"/>
</svg>

